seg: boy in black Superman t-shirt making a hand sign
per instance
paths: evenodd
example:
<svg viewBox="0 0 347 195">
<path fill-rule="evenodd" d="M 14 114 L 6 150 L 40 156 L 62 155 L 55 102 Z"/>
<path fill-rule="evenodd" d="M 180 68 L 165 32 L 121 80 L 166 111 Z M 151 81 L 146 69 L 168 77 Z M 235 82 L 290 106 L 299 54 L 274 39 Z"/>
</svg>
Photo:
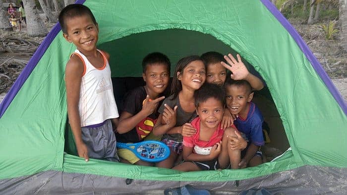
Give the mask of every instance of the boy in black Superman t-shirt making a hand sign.
<svg viewBox="0 0 347 195">
<path fill-rule="evenodd" d="M 142 61 L 142 77 L 145 86 L 137 87 L 128 92 L 124 98 L 124 109 L 119 118 L 116 131 L 118 142 L 135 143 L 146 140 L 160 140 L 151 132 L 159 116 L 158 105 L 165 96 L 160 95 L 165 91 L 170 80 L 170 60 L 161 53 L 151 53 Z M 128 149 L 118 148 L 121 162 L 136 165 L 152 166 L 137 158 Z"/>
</svg>

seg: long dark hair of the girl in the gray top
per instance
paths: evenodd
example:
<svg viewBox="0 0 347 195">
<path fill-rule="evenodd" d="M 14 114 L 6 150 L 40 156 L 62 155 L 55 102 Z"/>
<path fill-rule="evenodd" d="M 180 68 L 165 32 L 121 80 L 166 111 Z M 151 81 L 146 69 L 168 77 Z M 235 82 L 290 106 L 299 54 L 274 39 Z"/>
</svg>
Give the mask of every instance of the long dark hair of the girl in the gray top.
<svg viewBox="0 0 347 195">
<path fill-rule="evenodd" d="M 177 97 L 178 93 L 182 90 L 182 83 L 177 78 L 177 72 L 179 72 L 182 75 L 183 69 L 185 68 L 185 66 L 187 66 L 191 62 L 197 61 L 197 60 L 202 61 L 200 56 L 187 56 L 187 57 L 184 57 L 178 61 L 176 68 L 174 70 L 173 81 L 171 83 L 171 95 L 173 95 L 172 100 L 175 99 Z M 202 61 L 202 62 L 204 62 L 204 61 Z"/>
</svg>

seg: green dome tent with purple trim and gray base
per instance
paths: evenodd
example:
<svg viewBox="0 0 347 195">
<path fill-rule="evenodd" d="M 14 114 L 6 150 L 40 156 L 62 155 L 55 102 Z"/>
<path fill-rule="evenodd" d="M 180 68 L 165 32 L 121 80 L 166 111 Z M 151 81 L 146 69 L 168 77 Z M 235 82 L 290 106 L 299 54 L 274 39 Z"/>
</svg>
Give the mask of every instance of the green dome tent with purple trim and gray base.
<svg viewBox="0 0 347 195">
<path fill-rule="evenodd" d="M 230 194 L 260 188 L 346 193 L 346 103 L 269 0 L 77 3 L 93 11 L 98 47 L 110 53 L 115 78 L 141 76 L 141 59 L 154 51 L 167 54 L 173 65 L 207 51 L 239 53 L 265 80 L 290 149 L 258 167 L 187 173 L 96 159 L 86 163 L 64 152 L 71 145 L 65 141 L 64 70 L 75 48 L 57 24 L 0 104 L 1 194 L 153 194 L 187 184 Z M 114 83 L 115 89 L 121 86 Z"/>
</svg>

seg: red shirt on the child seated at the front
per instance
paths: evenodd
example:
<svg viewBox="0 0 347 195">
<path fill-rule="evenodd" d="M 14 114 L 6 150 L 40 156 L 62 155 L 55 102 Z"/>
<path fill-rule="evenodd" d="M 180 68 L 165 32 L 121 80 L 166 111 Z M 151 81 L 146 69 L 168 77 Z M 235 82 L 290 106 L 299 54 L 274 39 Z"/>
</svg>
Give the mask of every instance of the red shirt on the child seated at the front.
<svg viewBox="0 0 347 195">
<path fill-rule="evenodd" d="M 223 138 L 223 133 L 224 130 L 221 129 L 221 124 L 218 125 L 217 130 L 212 134 L 211 138 L 209 141 L 203 141 L 200 140 L 200 118 L 197 117 L 195 118 L 192 122 L 191 125 L 196 129 L 196 133 L 193 134 L 190 137 L 183 137 L 183 145 L 187 147 L 194 147 L 195 145 L 199 147 L 210 147 L 215 145 L 217 142 L 221 141 Z M 234 125 L 231 126 L 232 128 L 236 129 Z"/>
</svg>

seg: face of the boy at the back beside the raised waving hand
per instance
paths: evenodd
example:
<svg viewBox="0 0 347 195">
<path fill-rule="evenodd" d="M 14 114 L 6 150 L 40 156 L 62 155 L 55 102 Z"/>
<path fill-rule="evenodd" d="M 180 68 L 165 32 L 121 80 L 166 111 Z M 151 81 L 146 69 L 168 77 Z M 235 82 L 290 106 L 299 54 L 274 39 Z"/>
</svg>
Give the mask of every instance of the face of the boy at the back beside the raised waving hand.
<svg viewBox="0 0 347 195">
<path fill-rule="evenodd" d="M 222 86 L 227 78 L 227 68 L 221 63 L 209 64 L 206 70 L 206 82 Z"/>
</svg>

